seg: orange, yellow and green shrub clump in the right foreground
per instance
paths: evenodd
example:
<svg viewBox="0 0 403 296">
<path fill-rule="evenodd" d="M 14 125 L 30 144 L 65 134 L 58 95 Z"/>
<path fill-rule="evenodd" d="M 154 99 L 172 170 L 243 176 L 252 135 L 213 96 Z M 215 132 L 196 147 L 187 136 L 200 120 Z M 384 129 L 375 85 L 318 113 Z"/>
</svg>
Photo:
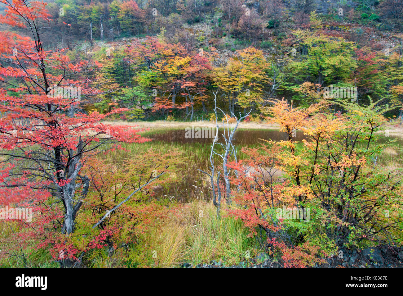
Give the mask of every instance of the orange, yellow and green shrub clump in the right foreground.
<svg viewBox="0 0 403 296">
<path fill-rule="evenodd" d="M 289 140 L 242 149 L 247 157 L 229 162 L 236 174 L 228 214 L 243 220 L 285 267 L 319 263 L 340 248 L 400 245 L 402 172 L 368 162 L 386 145 L 376 141 L 388 109 L 337 101 L 346 113 L 325 115 L 325 102 L 307 108 L 273 102 L 266 114 Z M 302 143 L 297 129 L 307 138 Z M 288 178 L 276 178 L 278 170 Z M 283 207 L 305 212 L 286 216 Z"/>
</svg>

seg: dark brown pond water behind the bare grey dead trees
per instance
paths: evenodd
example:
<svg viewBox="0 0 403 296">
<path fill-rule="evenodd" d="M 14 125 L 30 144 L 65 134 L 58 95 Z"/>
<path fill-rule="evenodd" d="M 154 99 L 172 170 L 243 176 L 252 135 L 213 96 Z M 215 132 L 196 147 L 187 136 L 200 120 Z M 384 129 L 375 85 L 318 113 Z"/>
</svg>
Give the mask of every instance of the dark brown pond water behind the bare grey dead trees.
<svg viewBox="0 0 403 296">
<path fill-rule="evenodd" d="M 223 143 L 222 133 L 224 131 L 220 129 L 219 143 Z M 213 134 L 213 136 L 211 136 Z M 191 135 L 189 133 L 188 135 Z M 194 136 L 197 135 L 197 130 L 194 130 Z M 201 134 L 200 134 L 201 135 Z M 181 202 L 186 202 L 189 199 L 210 199 L 211 189 L 210 189 L 210 179 L 209 177 L 200 172 L 199 170 L 204 170 L 210 172 L 210 151 L 212 138 L 214 138 L 215 132 L 210 132 L 210 139 L 202 138 L 186 138 L 185 128 L 168 129 L 168 130 L 150 130 L 145 136 L 152 139 L 155 145 L 164 145 L 172 147 L 180 147 L 187 157 L 186 165 L 180 168 L 181 176 L 180 180 L 173 183 L 172 186 L 166 189 L 156 190 L 157 198 L 170 198 L 172 200 L 177 200 Z M 263 140 L 288 140 L 287 134 L 285 132 L 279 132 L 278 130 L 268 130 L 268 129 L 238 129 L 235 132 L 234 143 L 238 147 L 238 159 L 242 159 L 243 155 L 240 153 L 241 147 L 256 147 L 264 143 Z M 304 139 L 302 131 L 297 131 L 297 136 L 295 141 L 301 141 Z M 395 139 L 392 137 L 380 139 L 380 143 L 386 143 L 389 139 Z M 403 140 L 399 139 L 395 144 L 394 150 L 397 155 L 387 155 L 382 154 L 379 163 L 385 164 L 388 162 L 395 162 L 396 159 L 403 159 Z M 220 149 L 220 145 L 215 146 Z M 398 161 L 399 162 L 399 161 Z M 216 164 L 220 164 L 220 160 L 216 160 Z M 158 183 L 157 183 L 158 184 Z"/>
</svg>

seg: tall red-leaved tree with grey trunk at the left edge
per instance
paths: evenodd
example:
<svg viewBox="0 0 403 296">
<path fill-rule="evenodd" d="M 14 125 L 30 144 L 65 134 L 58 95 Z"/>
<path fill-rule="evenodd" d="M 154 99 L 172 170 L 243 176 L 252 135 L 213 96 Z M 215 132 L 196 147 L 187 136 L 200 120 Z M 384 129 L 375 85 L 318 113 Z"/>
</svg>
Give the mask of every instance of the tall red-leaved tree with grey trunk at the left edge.
<svg viewBox="0 0 403 296">
<path fill-rule="evenodd" d="M 64 54 L 68 48 L 46 48 L 46 34 L 54 33 L 45 3 L 0 3 L 7 7 L 0 23 L 26 34 L 0 32 L 0 204 L 33 210 L 31 223 L 20 221 L 26 228 L 20 232 L 21 244 L 35 238 L 39 246 L 62 248 L 63 237 L 75 231 L 90 186 L 90 179 L 80 174 L 83 164 L 118 148 L 118 142 L 148 140 L 128 126 L 100 123 L 125 109 L 105 115 L 72 112 L 82 97 L 96 92 L 91 87 L 96 64 L 71 60 Z M 73 262 L 69 256 L 59 259 L 62 266 Z"/>
</svg>

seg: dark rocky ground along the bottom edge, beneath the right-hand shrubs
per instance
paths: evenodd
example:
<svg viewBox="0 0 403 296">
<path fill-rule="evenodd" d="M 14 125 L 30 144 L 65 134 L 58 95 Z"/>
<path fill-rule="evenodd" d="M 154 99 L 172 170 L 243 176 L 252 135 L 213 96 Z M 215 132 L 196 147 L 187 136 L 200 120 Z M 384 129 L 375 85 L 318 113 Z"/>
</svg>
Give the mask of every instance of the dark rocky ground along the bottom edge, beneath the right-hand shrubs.
<svg viewBox="0 0 403 296">
<path fill-rule="evenodd" d="M 248 258 L 238 265 L 226 266 L 225 262 L 212 260 L 209 263 L 191 265 L 183 263 L 183 268 L 283 268 L 283 264 L 272 260 L 264 253 Z M 337 256 L 313 268 L 403 268 L 403 250 L 396 248 L 366 248 L 362 251 L 340 250 Z"/>
</svg>

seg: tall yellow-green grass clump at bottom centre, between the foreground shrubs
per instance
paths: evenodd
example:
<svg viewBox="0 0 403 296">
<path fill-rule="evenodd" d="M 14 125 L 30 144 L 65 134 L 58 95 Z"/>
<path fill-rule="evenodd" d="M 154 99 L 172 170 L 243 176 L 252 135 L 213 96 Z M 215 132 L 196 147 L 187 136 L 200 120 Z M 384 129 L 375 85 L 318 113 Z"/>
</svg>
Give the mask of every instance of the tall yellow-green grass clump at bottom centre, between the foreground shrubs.
<svg viewBox="0 0 403 296">
<path fill-rule="evenodd" d="M 152 267 L 177 267 L 181 262 L 195 265 L 224 258 L 226 264 L 234 264 L 247 250 L 253 254 L 255 249 L 255 241 L 248 237 L 241 221 L 218 219 L 212 202 L 197 200 L 172 214 L 163 227 L 148 231 L 144 240 L 156 254 L 149 260 Z"/>
</svg>

